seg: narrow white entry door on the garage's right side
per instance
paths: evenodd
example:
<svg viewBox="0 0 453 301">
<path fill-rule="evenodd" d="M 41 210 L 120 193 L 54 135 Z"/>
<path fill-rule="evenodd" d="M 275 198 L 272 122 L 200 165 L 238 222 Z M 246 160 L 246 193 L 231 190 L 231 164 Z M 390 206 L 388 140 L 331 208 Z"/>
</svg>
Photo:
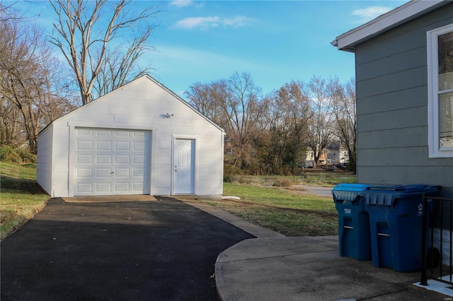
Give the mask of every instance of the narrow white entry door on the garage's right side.
<svg viewBox="0 0 453 301">
<path fill-rule="evenodd" d="M 195 140 L 175 139 L 173 194 L 193 194 L 195 178 Z"/>
</svg>

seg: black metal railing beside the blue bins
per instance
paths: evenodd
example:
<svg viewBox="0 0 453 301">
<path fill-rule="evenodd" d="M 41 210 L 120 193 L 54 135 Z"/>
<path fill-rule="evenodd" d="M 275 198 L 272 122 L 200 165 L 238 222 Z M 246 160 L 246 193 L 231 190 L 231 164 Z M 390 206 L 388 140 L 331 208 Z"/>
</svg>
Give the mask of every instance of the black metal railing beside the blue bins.
<svg viewBox="0 0 453 301">
<path fill-rule="evenodd" d="M 453 285 L 453 199 L 423 195 L 422 278 Z"/>
</svg>

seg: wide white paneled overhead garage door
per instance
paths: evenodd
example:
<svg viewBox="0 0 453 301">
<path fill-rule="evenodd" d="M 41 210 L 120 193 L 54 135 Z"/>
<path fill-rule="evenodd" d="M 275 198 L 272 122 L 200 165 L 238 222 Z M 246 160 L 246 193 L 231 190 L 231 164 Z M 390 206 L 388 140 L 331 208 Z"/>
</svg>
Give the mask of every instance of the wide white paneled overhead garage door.
<svg viewBox="0 0 453 301">
<path fill-rule="evenodd" d="M 75 132 L 74 196 L 149 194 L 150 131 Z"/>
</svg>

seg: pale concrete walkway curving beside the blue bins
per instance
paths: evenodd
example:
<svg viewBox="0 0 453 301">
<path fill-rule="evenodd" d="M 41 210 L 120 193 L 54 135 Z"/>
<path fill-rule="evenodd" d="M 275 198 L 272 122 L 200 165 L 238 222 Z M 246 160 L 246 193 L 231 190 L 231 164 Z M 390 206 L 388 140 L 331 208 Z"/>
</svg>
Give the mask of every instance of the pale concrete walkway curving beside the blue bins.
<svg viewBox="0 0 453 301">
<path fill-rule="evenodd" d="M 338 254 L 338 237 L 285 237 L 196 200 L 183 200 L 257 238 L 217 257 L 215 280 L 222 300 L 452 300 L 418 288 L 420 272 L 398 273 Z"/>
</svg>

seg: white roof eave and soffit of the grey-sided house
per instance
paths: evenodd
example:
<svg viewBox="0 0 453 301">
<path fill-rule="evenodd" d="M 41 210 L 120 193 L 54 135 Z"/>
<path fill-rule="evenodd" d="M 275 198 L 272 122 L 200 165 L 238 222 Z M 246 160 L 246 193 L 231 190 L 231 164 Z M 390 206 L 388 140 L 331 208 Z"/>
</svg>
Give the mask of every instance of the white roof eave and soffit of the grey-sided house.
<svg viewBox="0 0 453 301">
<path fill-rule="evenodd" d="M 402 6 L 395 8 L 393 11 L 384 13 L 374 20 L 365 23 L 357 28 L 343 33 L 333 40 L 331 44 L 338 47 L 338 50 L 355 52 L 355 46 L 369 40 L 370 38 L 380 35 L 398 25 L 406 23 L 418 16 L 421 16 L 435 8 L 448 4 L 447 0 L 414 0 Z"/>
</svg>

